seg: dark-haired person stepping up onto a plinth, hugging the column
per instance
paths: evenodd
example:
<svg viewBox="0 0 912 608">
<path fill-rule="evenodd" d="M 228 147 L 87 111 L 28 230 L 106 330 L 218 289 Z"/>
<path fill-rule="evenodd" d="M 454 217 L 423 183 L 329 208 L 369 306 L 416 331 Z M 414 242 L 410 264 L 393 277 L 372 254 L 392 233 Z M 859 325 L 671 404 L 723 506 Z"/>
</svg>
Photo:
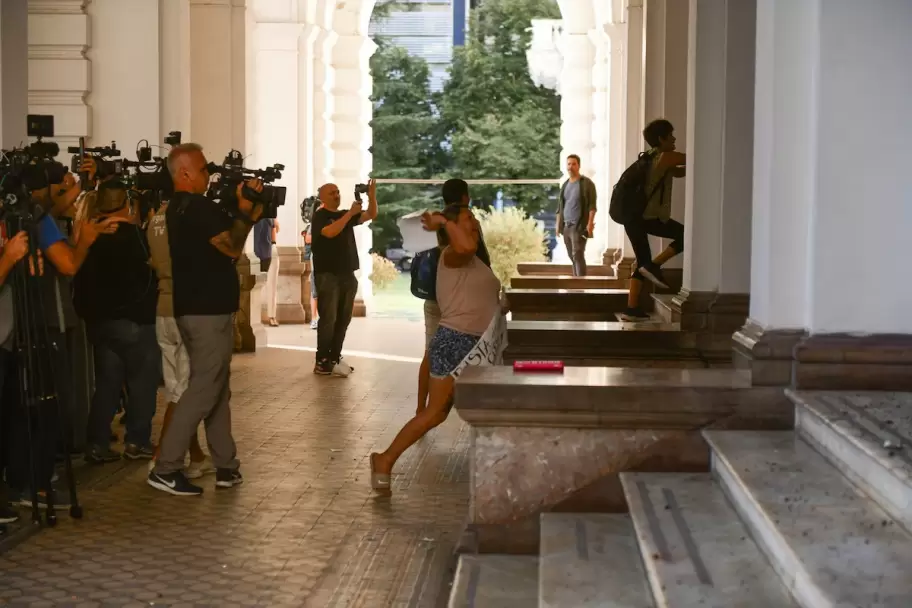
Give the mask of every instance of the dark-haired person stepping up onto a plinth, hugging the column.
<svg viewBox="0 0 912 608">
<path fill-rule="evenodd" d="M 674 126 L 665 119 L 654 120 L 643 130 L 649 144 L 647 154 L 652 158 L 646 192 L 651 193 L 642 217 L 624 224 L 624 230 L 636 255 L 636 268 L 630 277 L 627 310 L 621 315 L 625 321 L 648 319 L 640 306 L 643 281 L 668 289 L 662 274 L 662 265 L 684 251 L 684 225 L 671 219 L 671 192 L 674 179 L 686 175 L 687 157 L 675 150 Z M 655 258 L 649 247 L 649 235 L 672 239 L 672 242 Z"/>
</svg>

